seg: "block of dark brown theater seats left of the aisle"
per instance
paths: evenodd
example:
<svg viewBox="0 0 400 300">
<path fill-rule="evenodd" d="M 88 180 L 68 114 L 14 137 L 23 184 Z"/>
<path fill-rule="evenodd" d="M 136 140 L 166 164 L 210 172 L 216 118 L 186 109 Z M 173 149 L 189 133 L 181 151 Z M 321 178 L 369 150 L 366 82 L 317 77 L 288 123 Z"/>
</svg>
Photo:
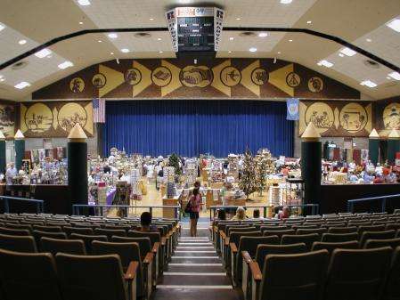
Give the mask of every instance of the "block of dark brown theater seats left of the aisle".
<svg viewBox="0 0 400 300">
<path fill-rule="evenodd" d="M 159 232 L 123 218 L 0 215 L 0 223 L 0 299 L 8 300 L 35 298 L 34 289 L 52 290 L 49 299 L 149 299 L 180 234 L 179 223 L 166 219 L 154 222 Z"/>
</svg>

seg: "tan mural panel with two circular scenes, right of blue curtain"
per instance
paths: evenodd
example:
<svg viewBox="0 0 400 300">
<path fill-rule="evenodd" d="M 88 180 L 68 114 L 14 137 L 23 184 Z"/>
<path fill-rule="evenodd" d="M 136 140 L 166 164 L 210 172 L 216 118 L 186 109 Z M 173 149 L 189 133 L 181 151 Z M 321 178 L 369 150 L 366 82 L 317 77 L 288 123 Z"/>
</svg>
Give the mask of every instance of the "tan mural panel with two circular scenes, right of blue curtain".
<svg viewBox="0 0 400 300">
<path fill-rule="evenodd" d="M 372 130 L 370 101 L 300 101 L 298 134 L 313 122 L 322 136 L 368 136 Z"/>
</svg>

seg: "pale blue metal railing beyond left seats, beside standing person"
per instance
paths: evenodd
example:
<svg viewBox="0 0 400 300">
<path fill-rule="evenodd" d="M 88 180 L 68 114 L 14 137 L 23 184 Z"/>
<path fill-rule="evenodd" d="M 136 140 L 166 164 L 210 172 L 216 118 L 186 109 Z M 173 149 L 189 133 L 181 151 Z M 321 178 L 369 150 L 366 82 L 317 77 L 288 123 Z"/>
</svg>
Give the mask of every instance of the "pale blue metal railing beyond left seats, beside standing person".
<svg viewBox="0 0 400 300">
<path fill-rule="evenodd" d="M 74 204 L 72 205 L 72 213 L 73 215 L 80 215 L 83 208 L 86 209 L 94 209 L 95 215 L 104 215 L 105 208 L 117 208 L 120 209 L 124 216 L 128 215 L 129 209 L 135 208 L 149 208 L 149 212 L 152 215 L 153 208 L 162 208 L 162 209 L 174 209 L 174 217 L 180 219 L 180 206 L 124 206 L 124 205 L 89 205 L 89 204 Z"/>
</svg>

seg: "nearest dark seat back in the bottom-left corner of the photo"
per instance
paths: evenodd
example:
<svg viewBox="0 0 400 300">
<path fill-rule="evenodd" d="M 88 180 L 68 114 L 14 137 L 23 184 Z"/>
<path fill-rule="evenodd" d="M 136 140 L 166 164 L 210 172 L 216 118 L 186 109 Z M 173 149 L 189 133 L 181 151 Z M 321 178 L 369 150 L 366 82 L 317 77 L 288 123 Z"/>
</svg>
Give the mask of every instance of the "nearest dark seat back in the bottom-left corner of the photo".
<svg viewBox="0 0 400 300">
<path fill-rule="evenodd" d="M 0 249 L 0 265 L 5 299 L 62 299 L 53 255 Z"/>
</svg>

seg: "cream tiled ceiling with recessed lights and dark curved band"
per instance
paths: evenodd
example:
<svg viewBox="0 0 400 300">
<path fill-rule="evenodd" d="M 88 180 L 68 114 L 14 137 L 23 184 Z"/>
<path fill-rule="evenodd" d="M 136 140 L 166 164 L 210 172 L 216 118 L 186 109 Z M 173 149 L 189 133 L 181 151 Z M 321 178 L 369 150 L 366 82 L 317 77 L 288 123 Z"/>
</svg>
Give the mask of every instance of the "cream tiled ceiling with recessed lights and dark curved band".
<svg viewBox="0 0 400 300">
<path fill-rule="evenodd" d="M 0 0 L 0 23 L 5 25 L 0 31 L 0 63 L 54 37 L 86 28 L 165 28 L 164 13 L 168 9 L 204 4 L 197 0 L 89 1 L 90 5 L 83 6 L 78 0 Z M 292 0 L 290 4 L 282 4 L 281 0 L 216 0 L 214 4 L 226 12 L 225 28 L 310 28 L 339 36 L 400 66 L 400 33 L 386 26 L 389 20 L 400 18 L 398 0 Z M 18 42 L 22 39 L 27 43 L 20 45 Z M 250 47 L 257 48 L 257 52 L 249 53 Z M 121 53 L 122 48 L 130 52 Z M 282 58 L 350 85 L 367 98 L 400 94 L 400 81 L 387 78 L 390 69 L 382 65 L 378 69 L 367 67 L 364 64 L 367 58 L 360 53 L 339 57 L 341 48 L 331 41 L 305 34 L 269 32 L 265 37 L 257 34 L 243 37 L 240 32 L 224 31 L 217 57 Z M 0 76 L 5 78 L 0 81 L 0 98 L 29 99 L 33 91 L 61 77 L 112 58 L 176 57 L 166 31 L 151 32 L 148 38 L 135 37 L 134 33 L 118 33 L 117 38 L 90 34 L 63 41 L 50 49 L 51 58 L 38 59 L 31 55 L 24 59 L 28 65 L 23 69 L 0 70 Z M 333 66 L 330 69 L 318 66 L 316 63 L 322 59 L 331 61 Z M 72 61 L 74 66 L 61 70 L 57 66 L 63 61 Z M 360 85 L 365 79 L 378 86 Z M 28 81 L 31 86 L 17 90 L 13 85 L 20 81 Z"/>
</svg>

